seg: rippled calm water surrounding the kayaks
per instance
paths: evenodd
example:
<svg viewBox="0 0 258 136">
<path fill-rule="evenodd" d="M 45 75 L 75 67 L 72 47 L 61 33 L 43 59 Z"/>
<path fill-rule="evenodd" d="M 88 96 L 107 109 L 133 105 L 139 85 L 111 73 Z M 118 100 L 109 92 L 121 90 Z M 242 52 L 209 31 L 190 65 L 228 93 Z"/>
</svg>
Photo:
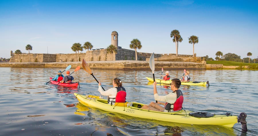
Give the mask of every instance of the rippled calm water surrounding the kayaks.
<svg viewBox="0 0 258 136">
<path fill-rule="evenodd" d="M 215 114 L 247 113 L 247 133 L 241 124 L 233 128 L 212 125 L 188 125 L 150 121 L 105 112 L 77 104 L 73 95 L 100 95 L 94 78 L 83 69 L 73 73 L 80 88 L 66 88 L 46 82 L 55 68 L 0 67 L 0 135 L 258 135 L 257 71 L 239 70 L 189 70 L 193 81 L 210 81 L 210 86 L 184 86 L 183 107 L 186 110 Z M 70 69 L 73 71 L 74 69 Z M 172 78 L 181 78 L 183 70 L 164 69 Z M 112 79 L 122 79 L 127 101 L 145 104 L 153 101 L 153 85 L 145 78 L 149 71 L 95 70 L 95 77 L 106 90 Z M 160 78 L 161 69 L 155 70 Z M 164 73 L 163 73 L 164 75 Z M 159 94 L 170 92 L 168 86 L 158 86 Z"/>
</svg>

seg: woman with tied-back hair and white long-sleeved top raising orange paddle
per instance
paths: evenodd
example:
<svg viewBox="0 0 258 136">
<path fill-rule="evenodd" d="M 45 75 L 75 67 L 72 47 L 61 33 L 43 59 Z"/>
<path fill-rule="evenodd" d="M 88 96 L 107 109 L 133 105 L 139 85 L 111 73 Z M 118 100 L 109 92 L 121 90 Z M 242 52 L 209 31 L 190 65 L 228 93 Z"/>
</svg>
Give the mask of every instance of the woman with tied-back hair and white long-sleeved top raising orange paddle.
<svg viewBox="0 0 258 136">
<path fill-rule="evenodd" d="M 99 89 L 101 95 L 108 96 L 108 104 L 115 104 L 115 102 L 126 102 L 126 90 L 122 87 L 122 81 L 118 78 L 113 80 L 113 88 L 106 91 L 103 90 L 101 83 L 99 82 Z"/>
</svg>

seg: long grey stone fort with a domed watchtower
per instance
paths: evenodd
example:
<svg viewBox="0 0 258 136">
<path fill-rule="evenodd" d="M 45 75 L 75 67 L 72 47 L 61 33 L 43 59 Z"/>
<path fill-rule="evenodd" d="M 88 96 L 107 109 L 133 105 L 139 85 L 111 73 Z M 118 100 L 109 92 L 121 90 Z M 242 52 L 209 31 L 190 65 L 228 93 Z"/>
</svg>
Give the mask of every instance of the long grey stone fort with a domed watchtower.
<svg viewBox="0 0 258 136">
<path fill-rule="evenodd" d="M 118 32 L 113 31 L 111 33 L 111 44 L 117 48 L 117 54 L 107 53 L 105 48 L 96 48 L 86 53 L 79 53 L 79 61 L 85 59 L 85 61 L 112 61 L 113 60 L 135 60 L 135 50 L 123 49 L 121 46 L 118 46 Z M 129 46 L 129 44 L 128 44 Z M 155 49 L 153 49 L 155 50 Z M 77 54 L 78 55 L 78 54 Z M 9 62 L 73 62 L 78 61 L 78 56 L 76 53 L 71 54 L 44 54 L 44 53 L 22 53 L 19 56 L 11 51 L 11 58 Z M 141 53 L 137 52 L 138 61 L 146 61 L 150 57 L 151 53 Z M 77 58 L 76 58 L 77 57 Z M 182 62 L 185 60 L 193 59 L 192 55 L 178 55 L 176 54 L 155 54 L 156 61 L 175 61 Z"/>
</svg>

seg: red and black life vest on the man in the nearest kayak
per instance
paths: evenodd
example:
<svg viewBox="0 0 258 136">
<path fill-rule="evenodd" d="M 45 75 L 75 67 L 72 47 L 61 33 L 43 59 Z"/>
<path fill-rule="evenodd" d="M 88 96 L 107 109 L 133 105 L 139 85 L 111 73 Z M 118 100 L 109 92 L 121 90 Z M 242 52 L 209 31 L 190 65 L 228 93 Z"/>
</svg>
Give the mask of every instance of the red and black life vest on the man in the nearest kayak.
<svg viewBox="0 0 258 136">
<path fill-rule="evenodd" d="M 167 110 L 168 112 L 170 112 L 171 110 L 173 111 L 182 110 L 182 105 L 184 101 L 183 93 L 181 90 L 176 90 L 176 93 L 177 93 L 177 100 L 175 101 L 174 104 L 170 104 L 167 102 L 165 103 L 165 110 Z M 174 107 L 171 108 L 171 105 L 174 105 Z"/>
</svg>

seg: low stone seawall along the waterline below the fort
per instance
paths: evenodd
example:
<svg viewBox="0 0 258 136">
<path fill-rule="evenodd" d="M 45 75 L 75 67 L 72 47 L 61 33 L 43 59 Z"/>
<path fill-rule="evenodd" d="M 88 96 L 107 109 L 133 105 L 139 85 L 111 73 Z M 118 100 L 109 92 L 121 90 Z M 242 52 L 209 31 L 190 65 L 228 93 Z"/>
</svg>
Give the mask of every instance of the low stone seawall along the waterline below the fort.
<svg viewBox="0 0 258 136">
<path fill-rule="evenodd" d="M 87 62 L 92 69 L 150 69 L 148 61 L 89 61 Z M 32 67 L 32 68 L 66 68 L 71 65 L 71 68 L 81 66 L 81 61 L 77 62 L 51 62 L 51 63 L 36 63 L 36 62 L 24 62 L 24 63 L 0 63 L 0 67 Z M 169 61 L 155 61 L 155 68 L 166 69 L 235 69 L 238 66 L 223 66 L 222 64 L 205 64 L 194 62 L 169 62 Z"/>
</svg>

